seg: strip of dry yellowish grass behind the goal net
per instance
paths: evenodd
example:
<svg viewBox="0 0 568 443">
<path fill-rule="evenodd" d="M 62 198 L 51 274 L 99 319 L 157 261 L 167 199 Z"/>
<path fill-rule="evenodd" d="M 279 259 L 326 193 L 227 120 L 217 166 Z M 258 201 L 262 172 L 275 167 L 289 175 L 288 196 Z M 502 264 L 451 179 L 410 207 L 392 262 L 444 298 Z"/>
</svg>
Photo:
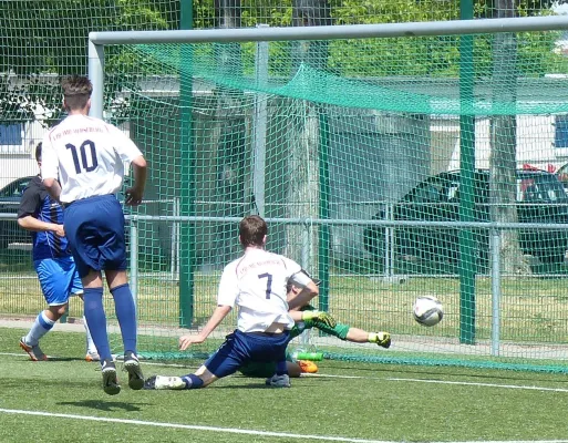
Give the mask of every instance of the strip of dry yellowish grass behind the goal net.
<svg viewBox="0 0 568 443">
<path fill-rule="evenodd" d="M 142 324 L 176 326 L 179 320 L 179 287 L 168 275 L 140 276 L 138 319 Z M 215 307 L 218 275 L 196 274 L 194 326 L 205 323 Z M 457 337 L 459 327 L 458 278 L 412 277 L 403 285 L 392 285 L 364 276 L 332 276 L 329 310 L 341 321 L 368 330 L 389 330 L 414 334 L 416 324 L 410 312 L 414 299 L 432 295 L 444 305 L 444 322 L 435 333 Z M 475 288 L 476 333 L 488 338 L 492 327 L 492 281 L 478 277 Z M 112 297 L 105 308 L 113 312 Z M 0 316 L 37 316 L 44 300 L 33 271 L 2 275 Z M 566 278 L 503 277 L 500 293 L 502 339 L 554 343 L 568 337 L 568 285 Z M 82 303 L 71 301 L 71 317 L 82 317 Z M 234 317 L 230 317 L 234 320 Z"/>
</svg>

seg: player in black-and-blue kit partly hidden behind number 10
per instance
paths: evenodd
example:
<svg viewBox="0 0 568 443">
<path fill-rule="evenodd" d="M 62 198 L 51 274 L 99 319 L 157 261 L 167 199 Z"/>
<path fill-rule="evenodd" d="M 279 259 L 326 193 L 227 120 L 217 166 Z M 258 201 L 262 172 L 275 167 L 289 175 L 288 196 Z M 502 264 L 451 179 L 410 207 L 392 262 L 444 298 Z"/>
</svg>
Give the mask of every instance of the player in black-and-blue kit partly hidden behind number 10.
<svg viewBox="0 0 568 443">
<path fill-rule="evenodd" d="M 41 143 L 35 147 L 35 161 L 41 166 Z M 83 297 L 83 286 L 63 230 L 63 208 L 48 195 L 39 175 L 23 192 L 18 208 L 18 224 L 32 231 L 33 267 L 48 302 L 48 309 L 40 312 L 28 334 L 21 338 L 20 348 L 33 361 L 48 360 L 40 348 L 40 339 L 65 313 L 70 296 Z M 85 360 L 97 361 L 99 353 L 85 318 L 83 324 L 86 331 Z"/>
</svg>

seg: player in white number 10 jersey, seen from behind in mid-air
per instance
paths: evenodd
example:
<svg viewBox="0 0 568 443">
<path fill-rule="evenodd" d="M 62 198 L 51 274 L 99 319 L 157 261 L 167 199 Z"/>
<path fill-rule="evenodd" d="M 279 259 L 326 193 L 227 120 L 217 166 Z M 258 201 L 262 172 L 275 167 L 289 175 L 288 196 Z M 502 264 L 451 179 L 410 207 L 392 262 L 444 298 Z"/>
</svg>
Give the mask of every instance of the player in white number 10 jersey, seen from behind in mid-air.
<svg viewBox="0 0 568 443">
<path fill-rule="evenodd" d="M 146 161 L 117 127 L 89 116 L 93 86 L 85 76 L 63 79 L 63 106 L 69 113 L 43 138 L 41 175 L 50 195 L 65 207 L 64 229 L 84 287 L 85 318 L 101 357 L 103 389 L 121 391 L 103 308 L 104 270 L 114 298 L 124 343 L 128 385 L 140 390 L 144 378 L 136 354 L 136 312 L 126 275 L 124 213 L 116 198 L 124 163 L 133 165 L 134 186 L 127 205 L 140 205 L 146 184 Z"/>
</svg>

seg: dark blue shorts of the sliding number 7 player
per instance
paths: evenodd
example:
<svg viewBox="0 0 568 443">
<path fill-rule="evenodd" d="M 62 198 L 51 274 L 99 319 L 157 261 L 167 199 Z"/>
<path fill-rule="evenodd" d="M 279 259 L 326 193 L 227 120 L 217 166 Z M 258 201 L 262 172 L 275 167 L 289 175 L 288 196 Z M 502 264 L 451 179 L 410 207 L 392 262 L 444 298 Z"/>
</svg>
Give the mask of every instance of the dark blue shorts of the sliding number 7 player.
<svg viewBox="0 0 568 443">
<path fill-rule="evenodd" d="M 235 373 L 242 364 L 250 361 L 283 360 L 289 334 L 289 331 L 265 334 L 236 330 L 225 338 L 225 342 L 204 365 L 220 379 Z"/>
</svg>

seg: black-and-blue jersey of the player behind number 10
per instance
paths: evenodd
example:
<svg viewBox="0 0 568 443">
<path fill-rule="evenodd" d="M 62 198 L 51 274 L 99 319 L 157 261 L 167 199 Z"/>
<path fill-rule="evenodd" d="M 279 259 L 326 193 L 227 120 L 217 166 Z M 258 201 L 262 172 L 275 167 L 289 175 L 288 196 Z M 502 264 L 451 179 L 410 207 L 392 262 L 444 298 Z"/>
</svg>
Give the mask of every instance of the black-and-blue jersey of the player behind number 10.
<svg viewBox="0 0 568 443">
<path fill-rule="evenodd" d="M 34 177 L 23 192 L 18 208 L 18 218 L 27 216 L 45 223 L 63 224 L 63 208 L 49 196 L 40 176 Z M 68 239 L 59 237 L 54 233 L 32 233 L 32 241 L 34 261 L 71 256 Z"/>
</svg>

